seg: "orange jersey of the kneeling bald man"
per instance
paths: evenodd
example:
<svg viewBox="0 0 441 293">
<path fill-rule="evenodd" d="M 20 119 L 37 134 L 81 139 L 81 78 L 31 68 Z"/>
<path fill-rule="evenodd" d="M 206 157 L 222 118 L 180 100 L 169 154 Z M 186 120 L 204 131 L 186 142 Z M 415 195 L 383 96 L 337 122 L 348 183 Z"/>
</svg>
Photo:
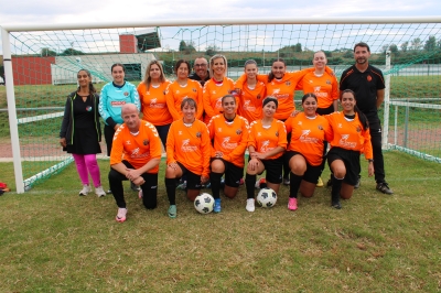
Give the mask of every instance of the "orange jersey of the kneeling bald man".
<svg viewBox="0 0 441 293">
<path fill-rule="evenodd" d="M 152 159 L 161 159 L 162 144 L 157 132 L 157 128 L 146 121 L 140 120 L 139 133 L 133 135 L 122 123 L 114 135 L 110 153 L 110 165 L 121 163 L 122 160 L 129 162 L 135 169 L 140 169 Z M 148 173 L 158 173 L 159 166 Z"/>
</svg>

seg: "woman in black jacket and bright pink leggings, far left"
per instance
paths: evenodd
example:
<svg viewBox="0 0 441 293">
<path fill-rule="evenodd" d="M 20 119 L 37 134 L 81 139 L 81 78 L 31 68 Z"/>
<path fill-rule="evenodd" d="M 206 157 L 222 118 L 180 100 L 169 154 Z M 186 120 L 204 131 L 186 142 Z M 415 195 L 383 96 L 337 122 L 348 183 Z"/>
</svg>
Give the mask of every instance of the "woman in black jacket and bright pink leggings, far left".
<svg viewBox="0 0 441 293">
<path fill-rule="evenodd" d="M 64 108 L 64 118 L 60 131 L 60 144 L 72 153 L 83 189 L 79 195 L 90 192 L 89 176 L 95 185 L 95 194 L 100 197 L 103 191 L 96 154 L 101 152 L 101 127 L 99 124 L 99 96 L 92 84 L 92 75 L 86 69 L 77 73 L 78 88 L 68 95 Z"/>
</svg>

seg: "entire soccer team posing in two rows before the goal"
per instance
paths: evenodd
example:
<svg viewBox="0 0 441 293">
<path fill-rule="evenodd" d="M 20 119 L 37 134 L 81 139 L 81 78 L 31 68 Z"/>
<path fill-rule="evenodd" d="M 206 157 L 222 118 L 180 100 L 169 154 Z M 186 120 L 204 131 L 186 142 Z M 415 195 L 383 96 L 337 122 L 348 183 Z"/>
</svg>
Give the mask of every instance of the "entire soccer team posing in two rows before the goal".
<svg viewBox="0 0 441 293">
<path fill-rule="evenodd" d="M 268 75 L 259 75 L 256 62 L 247 61 L 236 83 L 226 76 L 223 55 L 213 56 L 209 64 L 197 57 L 193 73 L 187 61 L 178 61 L 173 83 L 164 77 L 161 63 L 152 61 L 138 87 L 125 80 L 125 67 L 117 63 L 111 66 L 112 82 L 100 94 L 90 73 L 80 69 L 78 88 L 66 100 L 60 143 L 75 160 L 83 183 L 79 195 L 92 191 L 89 175 L 95 193 L 106 195 L 96 160 L 101 152 L 101 117 L 110 156 L 107 193 L 115 197 L 120 223 L 127 217 L 122 181 L 139 189 L 146 208 L 157 207 L 162 146 L 171 218 L 178 215 L 179 180 L 190 200 L 211 187 L 215 213 L 222 209 L 220 189 L 234 198 L 245 183 L 246 209 L 254 211 L 256 187 L 278 193 L 283 183 L 290 186 L 288 208 L 295 210 L 299 192 L 310 197 L 323 186 L 326 161 L 332 172 L 331 206 L 340 209 L 340 199 L 351 198 L 359 186 L 362 153 L 376 188 L 392 194 L 385 181 L 377 115 L 385 83 L 381 70 L 369 65 L 369 56 L 366 43 L 355 44 L 355 64 L 344 70 L 340 84 L 322 51 L 314 53 L 313 67 L 294 73 L 278 58 Z M 304 94 L 302 111 L 295 110 L 295 90 Z"/>
</svg>

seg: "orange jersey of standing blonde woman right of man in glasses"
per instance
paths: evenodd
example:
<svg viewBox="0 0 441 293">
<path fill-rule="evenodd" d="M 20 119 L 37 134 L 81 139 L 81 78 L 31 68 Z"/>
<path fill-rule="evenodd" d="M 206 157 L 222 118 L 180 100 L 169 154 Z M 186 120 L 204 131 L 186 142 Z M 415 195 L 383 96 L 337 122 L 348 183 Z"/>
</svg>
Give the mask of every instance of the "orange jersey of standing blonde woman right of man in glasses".
<svg viewBox="0 0 441 293">
<path fill-rule="evenodd" d="M 228 77 L 224 77 L 222 84 L 215 84 L 213 78 L 205 83 L 203 91 L 205 123 L 208 123 L 212 117 L 220 113 L 222 97 L 232 93 L 234 88 L 235 88 L 234 82 Z"/>
</svg>

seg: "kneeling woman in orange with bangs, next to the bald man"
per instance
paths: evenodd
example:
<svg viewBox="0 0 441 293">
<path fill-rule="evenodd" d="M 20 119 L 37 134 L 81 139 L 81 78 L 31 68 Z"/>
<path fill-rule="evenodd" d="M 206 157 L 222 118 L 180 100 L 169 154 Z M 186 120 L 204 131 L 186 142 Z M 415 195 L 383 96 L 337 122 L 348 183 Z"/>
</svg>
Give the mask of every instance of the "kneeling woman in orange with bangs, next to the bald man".
<svg viewBox="0 0 441 293">
<path fill-rule="evenodd" d="M 205 123 L 196 119 L 196 101 L 184 98 L 181 111 L 183 118 L 172 123 L 166 138 L 165 188 L 171 218 L 176 217 L 176 178 L 186 175 L 186 196 L 194 200 L 209 174 L 209 134 Z"/>
</svg>

